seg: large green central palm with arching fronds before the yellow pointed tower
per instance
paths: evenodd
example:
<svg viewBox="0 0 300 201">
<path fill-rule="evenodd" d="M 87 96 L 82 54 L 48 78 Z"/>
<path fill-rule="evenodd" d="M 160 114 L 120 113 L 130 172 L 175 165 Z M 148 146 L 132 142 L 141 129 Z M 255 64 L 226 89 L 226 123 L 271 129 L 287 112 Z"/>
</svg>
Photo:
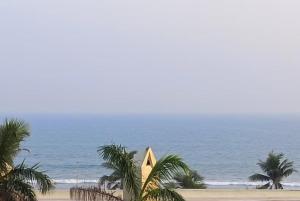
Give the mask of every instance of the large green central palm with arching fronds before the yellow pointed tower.
<svg viewBox="0 0 300 201">
<path fill-rule="evenodd" d="M 175 174 L 189 171 L 180 157 L 167 155 L 158 160 L 142 184 L 136 162 L 129 157 L 125 147 L 115 144 L 105 145 L 101 146 L 98 152 L 105 161 L 119 167 L 124 188 L 132 194 L 132 200 L 184 201 L 180 194 L 166 185 Z"/>
</svg>

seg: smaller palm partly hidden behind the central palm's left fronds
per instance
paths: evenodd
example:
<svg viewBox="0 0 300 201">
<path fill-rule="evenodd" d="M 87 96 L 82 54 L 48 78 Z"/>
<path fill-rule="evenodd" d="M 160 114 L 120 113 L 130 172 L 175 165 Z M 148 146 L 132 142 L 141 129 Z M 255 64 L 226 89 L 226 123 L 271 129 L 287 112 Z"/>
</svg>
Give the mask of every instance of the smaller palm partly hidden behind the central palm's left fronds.
<svg viewBox="0 0 300 201">
<path fill-rule="evenodd" d="M 131 151 L 128 154 L 130 159 L 134 158 L 134 155 L 137 151 Z M 110 175 L 104 175 L 100 178 L 99 183 L 100 185 L 105 185 L 110 190 L 115 190 L 117 188 L 123 189 L 123 181 L 122 181 L 122 173 L 118 166 L 111 162 L 104 162 L 102 163 L 102 167 L 105 167 L 113 172 Z"/>
</svg>

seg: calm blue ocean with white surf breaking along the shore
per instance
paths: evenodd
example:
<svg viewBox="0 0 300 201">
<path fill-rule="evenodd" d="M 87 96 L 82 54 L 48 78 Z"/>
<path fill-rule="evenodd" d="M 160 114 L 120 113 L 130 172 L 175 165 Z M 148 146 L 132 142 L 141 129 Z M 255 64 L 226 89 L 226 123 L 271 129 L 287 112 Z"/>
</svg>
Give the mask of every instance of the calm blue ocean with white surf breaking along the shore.
<svg viewBox="0 0 300 201">
<path fill-rule="evenodd" d="M 8 116 L 16 117 L 16 116 Z M 58 188 L 96 183 L 108 171 L 97 148 L 152 147 L 157 158 L 180 155 L 209 188 L 254 188 L 248 176 L 270 151 L 283 152 L 300 171 L 299 115 L 18 115 L 30 124 L 16 162 L 40 163 Z M 1 116 L 3 120 L 4 116 Z M 300 188 L 300 173 L 284 180 Z"/>
</svg>

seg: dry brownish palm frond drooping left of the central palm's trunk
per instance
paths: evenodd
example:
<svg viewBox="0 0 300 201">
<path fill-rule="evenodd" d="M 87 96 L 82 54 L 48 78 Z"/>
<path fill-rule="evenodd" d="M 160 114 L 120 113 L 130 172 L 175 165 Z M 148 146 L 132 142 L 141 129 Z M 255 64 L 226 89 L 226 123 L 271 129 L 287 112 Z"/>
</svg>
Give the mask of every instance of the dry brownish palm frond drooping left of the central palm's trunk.
<svg viewBox="0 0 300 201">
<path fill-rule="evenodd" d="M 97 187 L 73 187 L 70 198 L 76 201 L 123 201 L 121 197 Z"/>
</svg>

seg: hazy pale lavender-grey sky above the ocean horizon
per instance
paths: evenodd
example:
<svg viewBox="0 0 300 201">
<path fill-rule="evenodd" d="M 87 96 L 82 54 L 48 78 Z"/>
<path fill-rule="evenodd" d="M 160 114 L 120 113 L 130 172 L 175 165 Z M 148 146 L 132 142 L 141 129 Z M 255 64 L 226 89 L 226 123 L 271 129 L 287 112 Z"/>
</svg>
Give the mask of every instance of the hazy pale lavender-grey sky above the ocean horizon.
<svg viewBox="0 0 300 201">
<path fill-rule="evenodd" d="M 0 112 L 300 112 L 300 1 L 0 1 Z"/>
</svg>

